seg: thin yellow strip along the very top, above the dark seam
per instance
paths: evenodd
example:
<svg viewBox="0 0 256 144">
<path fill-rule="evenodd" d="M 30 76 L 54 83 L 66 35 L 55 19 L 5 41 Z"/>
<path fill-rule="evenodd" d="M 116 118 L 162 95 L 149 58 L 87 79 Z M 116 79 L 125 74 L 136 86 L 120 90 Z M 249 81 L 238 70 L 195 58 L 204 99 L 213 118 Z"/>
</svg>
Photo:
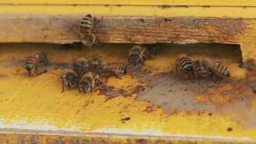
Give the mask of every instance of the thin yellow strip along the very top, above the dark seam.
<svg viewBox="0 0 256 144">
<path fill-rule="evenodd" d="M 238 0 L 215 0 L 215 1 L 205 1 L 205 0 L 177 0 L 177 1 L 170 1 L 170 0 L 164 0 L 164 1 L 136 1 L 136 0 L 130 0 L 130 1 L 117 1 L 117 0 L 67 0 L 67 1 L 61 1 L 61 0 L 44 0 L 44 1 L 32 1 L 32 0 L 9 0 L 9 1 L 1 1 L 0 4 L 109 4 L 109 5 L 215 5 L 215 6 L 250 6 L 254 7 L 256 6 L 256 2 L 253 0 L 245 0 L 245 1 L 238 1 Z"/>
</svg>

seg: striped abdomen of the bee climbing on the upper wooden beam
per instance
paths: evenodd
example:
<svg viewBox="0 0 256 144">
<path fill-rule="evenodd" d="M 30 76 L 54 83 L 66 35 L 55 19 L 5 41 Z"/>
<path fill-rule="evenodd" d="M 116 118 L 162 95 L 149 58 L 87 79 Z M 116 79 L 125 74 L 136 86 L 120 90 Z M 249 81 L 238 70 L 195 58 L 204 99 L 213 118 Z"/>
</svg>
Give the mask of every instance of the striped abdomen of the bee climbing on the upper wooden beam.
<svg viewBox="0 0 256 144">
<path fill-rule="evenodd" d="M 89 33 L 91 31 L 91 28 L 92 28 L 91 15 L 86 15 L 80 22 L 79 32 L 80 33 Z"/>
</svg>

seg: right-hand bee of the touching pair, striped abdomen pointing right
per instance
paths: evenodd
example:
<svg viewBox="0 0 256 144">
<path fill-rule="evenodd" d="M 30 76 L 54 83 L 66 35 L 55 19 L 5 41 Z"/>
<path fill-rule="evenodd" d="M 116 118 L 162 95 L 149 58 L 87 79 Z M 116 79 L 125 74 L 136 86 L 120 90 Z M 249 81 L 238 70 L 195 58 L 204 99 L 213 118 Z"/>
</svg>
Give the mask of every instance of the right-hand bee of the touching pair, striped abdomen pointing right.
<svg viewBox="0 0 256 144">
<path fill-rule="evenodd" d="M 210 59 L 201 59 L 194 62 L 194 68 L 196 71 L 199 71 L 203 77 L 207 73 L 210 73 L 214 81 L 216 81 L 216 75 L 220 77 L 229 77 L 229 69 L 224 67 L 224 65 L 219 62 L 211 62 Z"/>
</svg>

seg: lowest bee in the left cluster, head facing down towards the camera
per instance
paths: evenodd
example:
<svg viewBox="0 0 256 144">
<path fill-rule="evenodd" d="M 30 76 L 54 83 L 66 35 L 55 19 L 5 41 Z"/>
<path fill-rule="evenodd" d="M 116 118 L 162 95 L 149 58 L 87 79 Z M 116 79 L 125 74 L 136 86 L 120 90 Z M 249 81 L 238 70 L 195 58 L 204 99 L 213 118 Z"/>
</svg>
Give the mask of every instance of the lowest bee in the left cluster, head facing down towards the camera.
<svg viewBox="0 0 256 144">
<path fill-rule="evenodd" d="M 84 74 L 82 79 L 79 81 L 78 89 L 79 89 L 79 92 L 83 91 L 84 93 L 87 93 L 88 89 L 91 89 L 91 92 L 92 92 L 96 85 L 100 87 L 102 90 L 104 90 L 104 88 L 102 88 L 100 85 L 101 83 L 103 82 L 100 80 L 100 77 L 98 76 L 97 73 L 89 72 Z"/>
</svg>

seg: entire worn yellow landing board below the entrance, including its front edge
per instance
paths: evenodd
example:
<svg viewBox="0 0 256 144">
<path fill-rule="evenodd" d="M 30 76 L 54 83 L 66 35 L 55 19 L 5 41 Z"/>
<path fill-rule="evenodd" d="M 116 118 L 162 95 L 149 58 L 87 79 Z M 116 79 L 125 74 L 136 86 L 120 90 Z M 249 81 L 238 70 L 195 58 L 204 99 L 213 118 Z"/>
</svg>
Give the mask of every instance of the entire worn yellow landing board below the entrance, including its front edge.
<svg viewBox="0 0 256 144">
<path fill-rule="evenodd" d="M 238 67 L 238 45 L 162 44 L 162 52 L 141 69 L 127 69 L 122 79 L 103 84 L 106 91 L 87 94 L 76 88 L 61 93 L 61 79 L 52 73 L 65 67 L 67 54 L 126 63 L 132 45 L 52 46 L 0 44 L 0 143 L 256 142 L 256 97 Z M 51 64 L 40 67 L 48 73 L 28 77 L 23 64 L 34 50 L 44 51 Z M 231 77 L 192 82 L 182 71 L 175 75 L 181 53 L 222 61 Z"/>
</svg>

